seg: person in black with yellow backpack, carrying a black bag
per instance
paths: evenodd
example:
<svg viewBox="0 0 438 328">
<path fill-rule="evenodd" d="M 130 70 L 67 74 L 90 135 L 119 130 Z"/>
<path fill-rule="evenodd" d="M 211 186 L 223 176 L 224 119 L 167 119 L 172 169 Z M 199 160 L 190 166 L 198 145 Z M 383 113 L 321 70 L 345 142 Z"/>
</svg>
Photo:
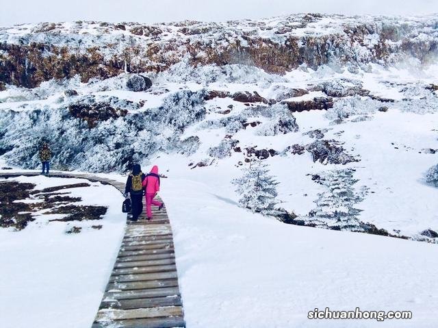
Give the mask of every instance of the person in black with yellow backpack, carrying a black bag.
<svg viewBox="0 0 438 328">
<path fill-rule="evenodd" d="M 138 216 L 143 212 L 143 194 L 144 188 L 142 182 L 146 175 L 142 173 L 140 164 L 133 164 L 132 171 L 128 175 L 125 186 L 125 197 L 131 196 L 132 220 L 138 220 Z"/>
</svg>

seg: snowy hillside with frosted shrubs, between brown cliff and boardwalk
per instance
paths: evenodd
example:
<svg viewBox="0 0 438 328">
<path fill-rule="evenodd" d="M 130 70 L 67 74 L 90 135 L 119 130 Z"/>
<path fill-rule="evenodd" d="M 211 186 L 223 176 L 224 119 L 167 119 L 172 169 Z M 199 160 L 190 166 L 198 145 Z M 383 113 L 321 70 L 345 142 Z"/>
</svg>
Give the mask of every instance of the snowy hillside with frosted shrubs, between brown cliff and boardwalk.
<svg viewBox="0 0 438 328">
<path fill-rule="evenodd" d="M 438 162 L 437 71 L 370 64 L 357 73 L 320 66 L 279 76 L 182 62 L 145 92 L 128 90 L 126 74 L 9 86 L 0 92 L 0 148 L 10 164 L 36 168 L 44 138 L 55 168 L 93 172 L 179 153 L 186 171 L 219 170 L 224 186 L 259 157 L 280 182 L 281 207 L 324 227 L 324 214 L 311 217 L 329 187 L 320 177 L 352 168 L 359 181 L 346 186 L 362 210 L 355 217 L 394 236 L 435 241 L 427 230 L 438 230 L 438 190 L 425 175 Z"/>
</svg>

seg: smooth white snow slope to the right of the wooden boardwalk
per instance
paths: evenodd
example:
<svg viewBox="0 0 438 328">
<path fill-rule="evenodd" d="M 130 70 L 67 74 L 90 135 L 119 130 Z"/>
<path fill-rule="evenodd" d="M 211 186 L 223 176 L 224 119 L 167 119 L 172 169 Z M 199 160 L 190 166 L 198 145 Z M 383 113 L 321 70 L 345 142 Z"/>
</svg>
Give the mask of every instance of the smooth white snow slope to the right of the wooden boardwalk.
<svg viewBox="0 0 438 328">
<path fill-rule="evenodd" d="M 398 327 L 435 327 L 434 244 L 285 225 L 237 207 L 227 171 L 187 172 L 177 157 L 162 197 L 172 223 L 188 327 L 376 327 L 308 320 L 331 310 L 410 310 Z M 394 327 L 394 321 L 378 323 Z"/>
</svg>

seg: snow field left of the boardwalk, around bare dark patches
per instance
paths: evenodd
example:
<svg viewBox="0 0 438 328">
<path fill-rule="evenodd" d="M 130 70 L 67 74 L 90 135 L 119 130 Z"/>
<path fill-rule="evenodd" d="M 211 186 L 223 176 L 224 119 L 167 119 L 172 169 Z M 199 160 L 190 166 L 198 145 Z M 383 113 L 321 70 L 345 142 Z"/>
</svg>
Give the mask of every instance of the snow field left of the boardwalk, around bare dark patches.
<svg viewBox="0 0 438 328">
<path fill-rule="evenodd" d="M 60 214 L 41 214 L 21 231 L 0 229 L 0 327 L 90 327 L 123 238 L 123 196 L 112 186 L 85 179 L 38 176 L 13 180 L 36 184 L 38 190 L 89 182 L 90 187 L 65 192 L 82 198 L 75 204 L 108 209 L 102 220 L 49 223 Z M 65 234 L 73 225 L 82 231 Z M 97 230 L 91 225 L 103 227 Z"/>
</svg>

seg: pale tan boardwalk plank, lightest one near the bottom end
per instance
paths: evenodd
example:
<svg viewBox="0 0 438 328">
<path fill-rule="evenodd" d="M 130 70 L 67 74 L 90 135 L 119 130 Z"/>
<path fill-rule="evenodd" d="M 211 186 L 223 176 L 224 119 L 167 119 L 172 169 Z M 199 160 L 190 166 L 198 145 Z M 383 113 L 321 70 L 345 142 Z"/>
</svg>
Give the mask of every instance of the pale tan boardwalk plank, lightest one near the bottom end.
<svg viewBox="0 0 438 328">
<path fill-rule="evenodd" d="M 157 318 L 166 316 L 183 316 L 183 308 L 181 306 L 160 306 L 131 310 L 101 309 L 97 312 L 96 321 Z"/>
</svg>

